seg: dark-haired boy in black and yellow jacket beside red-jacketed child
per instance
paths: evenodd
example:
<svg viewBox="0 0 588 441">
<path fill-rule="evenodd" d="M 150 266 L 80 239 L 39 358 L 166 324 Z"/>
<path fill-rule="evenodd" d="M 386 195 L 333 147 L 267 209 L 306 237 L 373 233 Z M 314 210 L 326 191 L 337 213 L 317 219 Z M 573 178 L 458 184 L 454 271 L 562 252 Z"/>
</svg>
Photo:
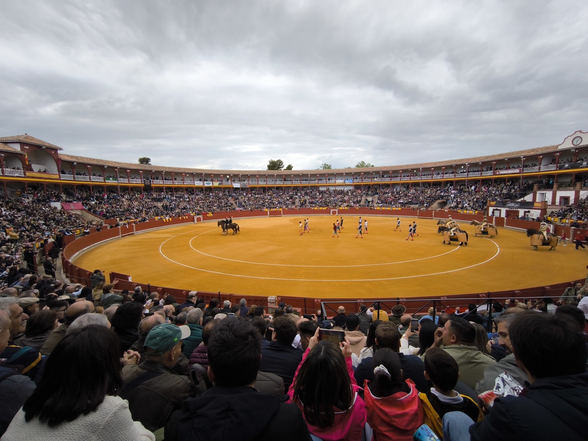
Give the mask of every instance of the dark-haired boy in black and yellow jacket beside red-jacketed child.
<svg viewBox="0 0 588 441">
<path fill-rule="evenodd" d="M 463 412 L 472 422 L 482 421 L 482 409 L 467 395 L 455 390 L 459 366 L 447 352 L 431 348 L 425 355 L 425 377 L 433 387 L 419 394 L 425 411 L 425 424 L 443 439 L 443 416 L 447 412 Z"/>
</svg>

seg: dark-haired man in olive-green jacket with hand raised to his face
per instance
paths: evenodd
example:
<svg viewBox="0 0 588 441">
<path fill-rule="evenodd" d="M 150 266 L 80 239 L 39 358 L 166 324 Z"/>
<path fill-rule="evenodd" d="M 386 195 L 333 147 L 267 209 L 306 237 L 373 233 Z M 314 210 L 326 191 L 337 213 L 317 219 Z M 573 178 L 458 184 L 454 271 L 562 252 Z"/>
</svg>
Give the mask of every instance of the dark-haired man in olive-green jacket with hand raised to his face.
<svg viewBox="0 0 588 441">
<path fill-rule="evenodd" d="M 431 346 L 440 348 L 443 345 L 443 349 L 456 360 L 460 379 L 472 389 L 483 379 L 484 370 L 496 363 L 490 355 L 476 348 L 475 339 L 476 330 L 472 323 L 452 317 L 443 328 L 435 331 L 435 343 Z"/>
</svg>

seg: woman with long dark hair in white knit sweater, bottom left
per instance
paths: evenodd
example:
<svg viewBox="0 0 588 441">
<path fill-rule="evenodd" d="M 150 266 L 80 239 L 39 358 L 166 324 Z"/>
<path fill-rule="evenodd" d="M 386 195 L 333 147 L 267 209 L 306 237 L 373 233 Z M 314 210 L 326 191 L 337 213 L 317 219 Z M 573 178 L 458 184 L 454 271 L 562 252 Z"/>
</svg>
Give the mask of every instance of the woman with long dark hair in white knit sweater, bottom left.
<svg viewBox="0 0 588 441">
<path fill-rule="evenodd" d="M 155 441 L 141 423 L 133 422 L 128 403 L 117 396 L 123 387 L 117 347 L 115 333 L 104 326 L 89 325 L 67 335 L 2 440 Z"/>
</svg>

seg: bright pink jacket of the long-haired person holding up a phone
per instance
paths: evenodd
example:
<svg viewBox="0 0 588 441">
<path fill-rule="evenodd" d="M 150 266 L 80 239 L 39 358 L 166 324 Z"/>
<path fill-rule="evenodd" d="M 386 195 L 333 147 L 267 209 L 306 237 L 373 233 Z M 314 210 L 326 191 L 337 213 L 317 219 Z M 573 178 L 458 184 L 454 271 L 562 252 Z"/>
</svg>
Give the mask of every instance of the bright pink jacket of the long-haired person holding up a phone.
<svg viewBox="0 0 588 441">
<path fill-rule="evenodd" d="M 310 349 L 306 349 L 305 353 L 302 355 L 302 361 L 298 365 L 298 368 L 296 368 L 294 379 L 288 389 L 288 395 L 290 396 L 290 399 L 288 400 L 289 403 L 293 402 L 292 397 L 294 396 L 296 377 L 298 377 L 300 366 L 302 366 L 302 363 L 306 360 L 309 350 Z M 332 426 L 326 427 L 325 429 L 313 426 L 308 421 L 306 422 L 310 433 L 318 436 L 324 441 L 359 441 L 362 439 L 363 427 L 366 424 L 367 414 L 365 403 L 358 395 L 358 390 L 361 390 L 362 388 L 359 387 L 358 383 L 355 381 L 351 358 L 346 357 L 345 362 L 347 363 L 347 372 L 351 380 L 351 387 L 353 388 L 353 402 L 351 406 L 349 406 L 349 409 L 345 410 L 335 408 L 335 422 Z M 304 409 L 300 400 L 296 400 L 296 405 L 299 407 L 300 412 L 302 412 L 302 416 L 304 416 Z"/>
</svg>

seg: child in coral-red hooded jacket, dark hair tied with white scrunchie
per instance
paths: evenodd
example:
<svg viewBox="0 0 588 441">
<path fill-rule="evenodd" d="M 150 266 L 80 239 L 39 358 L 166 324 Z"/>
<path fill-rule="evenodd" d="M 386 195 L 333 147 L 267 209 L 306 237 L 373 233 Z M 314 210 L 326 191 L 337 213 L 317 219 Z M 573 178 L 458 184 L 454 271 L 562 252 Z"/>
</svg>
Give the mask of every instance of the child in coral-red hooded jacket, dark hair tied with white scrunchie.
<svg viewBox="0 0 588 441">
<path fill-rule="evenodd" d="M 372 368 L 373 380 L 365 380 L 363 391 L 374 439 L 412 441 L 424 421 L 415 383 L 402 379 L 400 359 L 390 348 L 376 351 Z"/>
</svg>

